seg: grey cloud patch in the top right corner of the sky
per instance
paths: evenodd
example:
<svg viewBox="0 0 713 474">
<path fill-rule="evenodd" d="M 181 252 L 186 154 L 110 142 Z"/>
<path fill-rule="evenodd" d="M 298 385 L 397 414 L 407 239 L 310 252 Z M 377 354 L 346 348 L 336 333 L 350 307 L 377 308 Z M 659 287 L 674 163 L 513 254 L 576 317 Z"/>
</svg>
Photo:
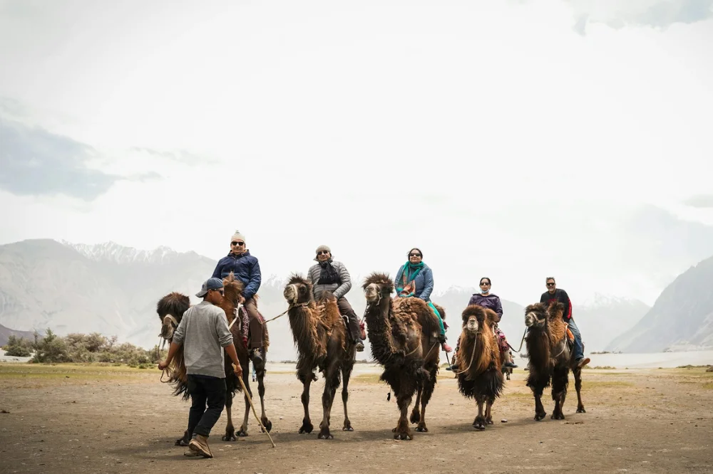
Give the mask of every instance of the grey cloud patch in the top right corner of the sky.
<svg viewBox="0 0 713 474">
<path fill-rule="evenodd" d="M 665 29 L 674 23 L 696 23 L 713 17 L 713 0 L 568 0 L 575 14 L 573 29 L 585 35 L 588 23 L 620 29 L 628 25 Z"/>
</svg>

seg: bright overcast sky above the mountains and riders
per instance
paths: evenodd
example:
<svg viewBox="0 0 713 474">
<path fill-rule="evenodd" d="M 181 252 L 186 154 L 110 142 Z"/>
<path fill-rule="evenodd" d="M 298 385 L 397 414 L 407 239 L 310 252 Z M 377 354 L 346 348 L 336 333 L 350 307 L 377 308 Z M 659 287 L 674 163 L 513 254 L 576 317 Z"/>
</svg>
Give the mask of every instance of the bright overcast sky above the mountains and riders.
<svg viewBox="0 0 713 474">
<path fill-rule="evenodd" d="M 711 44 L 713 0 L 0 0 L 0 243 L 652 304 L 713 256 L 662 246 L 713 227 Z"/>
</svg>

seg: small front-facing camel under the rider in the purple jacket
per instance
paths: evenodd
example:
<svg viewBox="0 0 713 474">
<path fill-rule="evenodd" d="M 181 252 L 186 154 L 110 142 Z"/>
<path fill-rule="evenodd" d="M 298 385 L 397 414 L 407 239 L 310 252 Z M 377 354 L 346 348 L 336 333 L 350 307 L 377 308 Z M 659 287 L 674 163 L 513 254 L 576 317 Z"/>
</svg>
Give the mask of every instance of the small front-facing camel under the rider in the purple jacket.
<svg viewBox="0 0 713 474">
<path fill-rule="evenodd" d="M 463 310 L 462 318 L 460 367 L 465 367 L 457 373 L 458 389 L 466 398 L 476 399 L 478 416 L 473 428 L 482 431 L 493 424 L 493 402 L 503 392 L 501 352 L 493 331 L 498 315 L 493 310 L 470 305 Z"/>
</svg>

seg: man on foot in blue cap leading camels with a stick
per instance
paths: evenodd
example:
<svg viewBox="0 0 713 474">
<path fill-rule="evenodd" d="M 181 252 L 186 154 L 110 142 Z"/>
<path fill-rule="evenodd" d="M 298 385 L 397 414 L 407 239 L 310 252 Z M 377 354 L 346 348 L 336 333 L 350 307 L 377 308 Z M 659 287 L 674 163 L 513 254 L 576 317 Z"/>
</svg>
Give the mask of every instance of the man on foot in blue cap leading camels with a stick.
<svg viewBox="0 0 713 474">
<path fill-rule="evenodd" d="M 183 319 L 173 334 L 173 342 L 165 361 L 158 364 L 164 370 L 183 345 L 183 360 L 188 374 L 191 406 L 188 412 L 188 436 L 191 437 L 185 455 L 212 458 L 208 447 L 210 430 L 220 418 L 225 406 L 225 352 L 235 364 L 235 375 L 242 377 L 227 317 L 220 305 L 223 284 L 219 278 L 209 278 L 195 294 L 202 302 L 183 313 Z M 207 403 L 207 409 L 205 408 Z"/>
</svg>

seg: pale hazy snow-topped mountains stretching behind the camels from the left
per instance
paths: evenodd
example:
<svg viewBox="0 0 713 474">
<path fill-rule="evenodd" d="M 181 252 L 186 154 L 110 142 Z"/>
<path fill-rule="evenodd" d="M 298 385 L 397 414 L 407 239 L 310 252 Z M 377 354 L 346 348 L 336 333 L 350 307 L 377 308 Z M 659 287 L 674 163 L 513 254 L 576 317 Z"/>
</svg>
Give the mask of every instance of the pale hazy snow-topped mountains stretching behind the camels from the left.
<svg viewBox="0 0 713 474">
<path fill-rule="evenodd" d="M 215 264 L 198 253 L 166 247 L 138 251 L 113 242 L 85 245 L 50 239 L 7 244 L 0 246 L 0 324 L 28 331 L 26 335 L 48 327 L 59 335 L 100 332 L 153 347 L 159 341 L 160 327 L 156 302 L 166 293 L 179 291 L 190 295 L 195 304 L 198 298 L 193 295 Z M 359 315 L 366 306 L 357 284 L 362 278 L 352 275 L 354 285 L 347 294 Z M 263 275 L 259 307 L 266 318 L 284 311 L 284 283 Z M 460 314 L 475 291 L 452 287 L 433 295 L 446 308 L 451 345 L 460 332 Z M 502 302 L 501 328 L 511 345 L 518 347 L 525 330 L 524 306 L 506 299 Z M 604 349 L 649 310 L 637 300 L 603 295 L 573 306 L 588 351 Z M 272 360 L 296 357 L 287 317 L 270 322 L 270 339 Z M 359 358 L 368 359 L 369 353 L 367 342 Z"/>
</svg>

